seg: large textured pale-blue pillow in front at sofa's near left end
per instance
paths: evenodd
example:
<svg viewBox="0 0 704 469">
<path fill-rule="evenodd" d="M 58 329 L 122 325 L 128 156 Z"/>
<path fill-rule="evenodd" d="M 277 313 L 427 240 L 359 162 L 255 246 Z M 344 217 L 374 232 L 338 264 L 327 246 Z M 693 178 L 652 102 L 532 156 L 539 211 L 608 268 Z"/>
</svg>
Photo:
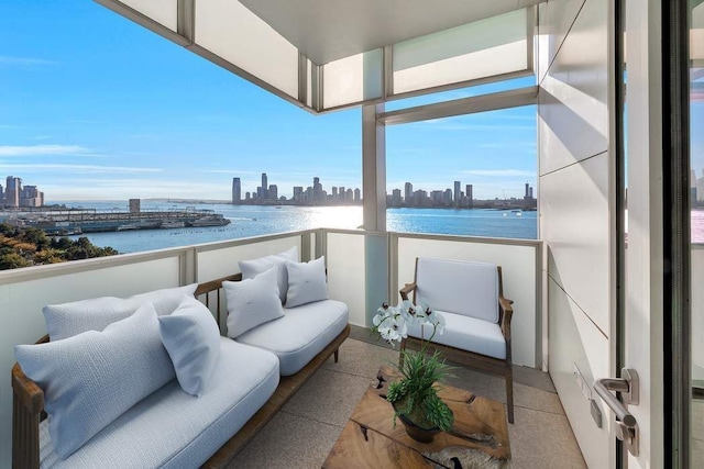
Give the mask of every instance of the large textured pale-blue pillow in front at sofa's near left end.
<svg viewBox="0 0 704 469">
<path fill-rule="evenodd" d="M 18 345 L 14 355 L 44 391 L 52 443 L 64 459 L 175 376 L 151 303 L 102 332 Z"/>
</svg>

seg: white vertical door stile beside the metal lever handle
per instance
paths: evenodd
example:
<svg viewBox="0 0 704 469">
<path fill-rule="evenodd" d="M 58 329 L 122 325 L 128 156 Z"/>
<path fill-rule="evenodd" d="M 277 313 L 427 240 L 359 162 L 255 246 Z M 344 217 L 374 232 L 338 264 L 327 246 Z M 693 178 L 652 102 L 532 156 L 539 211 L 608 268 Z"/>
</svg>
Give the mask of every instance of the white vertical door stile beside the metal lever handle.
<svg viewBox="0 0 704 469">
<path fill-rule="evenodd" d="M 625 2 L 625 179 L 627 187 L 622 365 L 639 378 L 638 449 L 627 467 L 663 461 L 663 185 L 661 1 Z M 617 431 L 617 427 L 615 427 Z M 623 445 L 627 446 L 627 445 Z M 623 455 L 616 455 L 622 458 Z M 617 461 L 618 467 L 620 461 Z"/>
</svg>

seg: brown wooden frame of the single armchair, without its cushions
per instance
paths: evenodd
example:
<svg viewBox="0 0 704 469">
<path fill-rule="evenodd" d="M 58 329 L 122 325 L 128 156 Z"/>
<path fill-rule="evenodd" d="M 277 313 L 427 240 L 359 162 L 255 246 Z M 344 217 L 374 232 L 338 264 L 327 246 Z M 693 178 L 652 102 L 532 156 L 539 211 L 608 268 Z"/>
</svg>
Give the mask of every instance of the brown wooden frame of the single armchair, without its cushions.
<svg viewBox="0 0 704 469">
<path fill-rule="evenodd" d="M 431 343 L 432 345 L 428 346 L 427 350 L 431 354 L 438 350 L 444 354 L 444 356 L 451 361 L 480 369 L 482 371 L 503 376 L 506 380 L 506 407 L 508 410 L 508 422 L 514 423 L 514 369 L 510 354 L 510 320 L 514 315 L 514 308 L 512 306 L 514 302 L 504 298 L 504 280 L 502 279 L 502 267 L 496 266 L 496 270 L 498 273 L 498 322 L 502 327 L 504 339 L 506 340 L 506 358 L 502 360 L 499 358 L 488 357 L 486 355 L 476 354 L 474 351 L 463 350 L 461 348 L 436 343 Z M 417 278 L 417 275 L 418 259 L 416 259 L 416 272 L 414 277 Z M 415 279 L 413 283 L 406 283 L 406 286 L 400 289 L 400 298 L 403 300 L 408 300 L 408 294 L 410 292 L 414 293 L 413 298 L 415 303 Z M 405 350 L 406 348 L 409 348 L 411 350 L 419 350 L 422 346 L 422 343 L 424 340 L 420 338 L 408 337 L 402 340 L 400 349 Z"/>
</svg>

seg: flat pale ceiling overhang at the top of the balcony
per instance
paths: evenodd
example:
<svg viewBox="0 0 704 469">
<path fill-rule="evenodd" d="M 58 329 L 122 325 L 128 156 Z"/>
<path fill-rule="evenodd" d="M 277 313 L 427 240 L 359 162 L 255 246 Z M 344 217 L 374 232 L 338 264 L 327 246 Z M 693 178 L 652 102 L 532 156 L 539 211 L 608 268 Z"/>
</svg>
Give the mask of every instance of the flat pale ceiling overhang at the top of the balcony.
<svg viewBox="0 0 704 469">
<path fill-rule="evenodd" d="M 318 65 L 540 1 L 240 0 Z"/>
</svg>

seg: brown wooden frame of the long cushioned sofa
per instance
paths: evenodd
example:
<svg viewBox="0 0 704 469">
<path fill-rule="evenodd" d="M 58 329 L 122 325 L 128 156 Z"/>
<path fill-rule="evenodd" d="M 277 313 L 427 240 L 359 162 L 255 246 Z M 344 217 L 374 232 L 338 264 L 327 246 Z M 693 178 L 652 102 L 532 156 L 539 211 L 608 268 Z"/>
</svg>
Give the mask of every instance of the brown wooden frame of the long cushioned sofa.
<svg viewBox="0 0 704 469">
<path fill-rule="evenodd" d="M 217 280 L 200 283 L 195 292 L 196 298 L 204 297 L 204 303 L 210 308 L 210 297 L 217 299 L 216 320 L 220 326 L 223 321 L 221 312 L 221 294 L 223 281 L 240 281 L 241 273 L 223 277 Z M 227 319 L 227 316 L 224 316 Z M 222 330 L 222 328 L 221 328 Z M 274 415 L 288 402 L 288 400 L 308 381 L 328 359 L 333 356 L 338 362 L 340 345 L 350 335 L 350 325 L 344 327 L 326 348 L 297 373 L 280 377 L 278 387 L 270 400 L 250 418 L 240 431 L 232 436 L 218 451 L 210 457 L 204 468 L 224 468 L 244 448 L 244 446 L 271 421 Z M 45 335 L 37 344 L 47 343 Z M 40 467 L 40 422 L 46 418 L 44 412 L 44 392 L 29 379 L 19 364 L 12 367 L 12 467 L 38 468 Z"/>
</svg>

